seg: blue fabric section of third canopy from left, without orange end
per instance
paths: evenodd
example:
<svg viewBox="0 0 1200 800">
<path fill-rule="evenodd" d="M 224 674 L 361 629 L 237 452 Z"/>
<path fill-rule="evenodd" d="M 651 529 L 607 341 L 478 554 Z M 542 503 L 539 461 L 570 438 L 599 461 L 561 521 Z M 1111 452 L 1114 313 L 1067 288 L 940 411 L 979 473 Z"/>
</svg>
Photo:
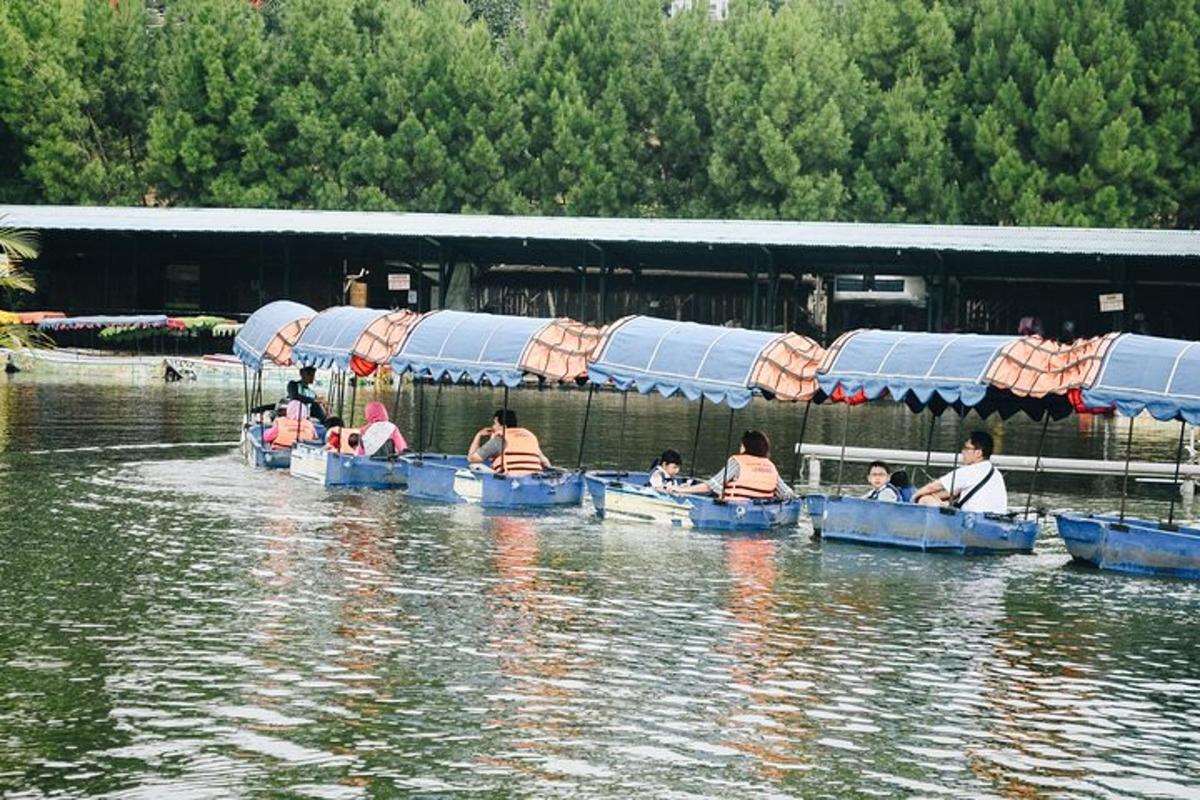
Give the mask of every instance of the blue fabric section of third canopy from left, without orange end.
<svg viewBox="0 0 1200 800">
<path fill-rule="evenodd" d="M 391 360 L 396 374 L 517 386 L 527 347 L 556 320 L 438 311 L 418 321 Z"/>
</svg>

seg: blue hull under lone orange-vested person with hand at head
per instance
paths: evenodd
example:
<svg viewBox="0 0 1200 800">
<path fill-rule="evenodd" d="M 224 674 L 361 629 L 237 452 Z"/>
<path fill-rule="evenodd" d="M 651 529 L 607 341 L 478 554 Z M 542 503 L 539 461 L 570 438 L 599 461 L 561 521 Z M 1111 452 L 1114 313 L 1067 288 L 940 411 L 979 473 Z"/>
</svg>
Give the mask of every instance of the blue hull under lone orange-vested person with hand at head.
<svg viewBox="0 0 1200 800">
<path fill-rule="evenodd" d="M 485 509 L 552 509 L 583 501 L 583 476 L 546 471 L 506 476 L 476 473 L 466 456 L 424 453 L 401 459 L 408 469 L 408 494 L 440 503 L 478 503 Z"/>
</svg>

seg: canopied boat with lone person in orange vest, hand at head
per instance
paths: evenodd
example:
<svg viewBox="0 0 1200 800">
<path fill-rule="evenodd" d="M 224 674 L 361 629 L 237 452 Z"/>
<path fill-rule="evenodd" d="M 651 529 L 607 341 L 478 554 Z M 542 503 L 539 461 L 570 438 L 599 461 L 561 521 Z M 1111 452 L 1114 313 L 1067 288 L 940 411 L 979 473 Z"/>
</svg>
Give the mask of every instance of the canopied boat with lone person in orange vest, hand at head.
<svg viewBox="0 0 1200 800">
<path fill-rule="evenodd" d="M 434 311 L 412 327 L 391 360 L 396 375 L 415 380 L 488 384 L 509 389 L 526 377 L 570 381 L 587 374 L 587 356 L 599 331 L 570 319 L 506 317 L 460 311 Z M 419 432 L 424 440 L 424 431 Z M 474 503 L 487 510 L 577 507 L 583 499 L 580 471 L 547 469 L 533 475 L 506 476 L 475 469 L 454 453 L 406 455 L 408 497 L 438 503 Z"/>
</svg>

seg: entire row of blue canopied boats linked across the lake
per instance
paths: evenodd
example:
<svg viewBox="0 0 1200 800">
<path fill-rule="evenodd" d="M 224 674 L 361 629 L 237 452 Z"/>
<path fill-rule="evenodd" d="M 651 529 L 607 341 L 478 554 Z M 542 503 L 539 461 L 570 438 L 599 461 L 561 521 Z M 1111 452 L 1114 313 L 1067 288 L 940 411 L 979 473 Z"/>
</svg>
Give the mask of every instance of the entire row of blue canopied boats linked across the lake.
<svg viewBox="0 0 1200 800">
<path fill-rule="evenodd" d="M 812 403 L 844 403 L 848 413 L 890 398 L 914 413 L 952 410 L 960 417 L 970 410 L 1006 417 L 1025 413 L 1049 423 L 1069 414 L 1146 413 L 1180 422 L 1181 432 L 1200 423 L 1198 343 L 1132 333 L 1060 344 L 1040 337 L 860 330 L 827 349 L 796 333 L 650 317 L 596 329 L 569 319 L 456 311 L 335 307 L 318 314 L 278 301 L 247 320 L 234 353 L 250 373 L 298 363 L 361 377 L 386 365 L 416 380 L 503 386 L 505 398 L 509 387 L 529 377 L 586 383 L 581 463 L 596 387 L 682 396 L 727 405 L 731 414 L 758 396 L 804 404 L 805 421 Z M 646 473 L 547 469 L 512 476 L 473 470 L 466 456 L 446 453 L 377 459 L 304 443 L 272 450 L 254 420 L 244 450 L 258 467 L 288 468 L 325 486 L 398 488 L 418 499 L 491 510 L 569 509 L 587 495 L 601 517 L 728 531 L 793 527 L 805 510 L 815 535 L 827 540 L 949 553 L 1030 553 L 1039 531 L 1027 510 L 979 513 L 841 493 L 722 500 L 662 493 L 649 486 Z M 1200 578 L 1200 529 L 1175 523 L 1174 501 L 1166 521 L 1133 518 L 1123 507 L 1116 515 L 1055 513 L 1070 554 L 1102 569 Z"/>
</svg>

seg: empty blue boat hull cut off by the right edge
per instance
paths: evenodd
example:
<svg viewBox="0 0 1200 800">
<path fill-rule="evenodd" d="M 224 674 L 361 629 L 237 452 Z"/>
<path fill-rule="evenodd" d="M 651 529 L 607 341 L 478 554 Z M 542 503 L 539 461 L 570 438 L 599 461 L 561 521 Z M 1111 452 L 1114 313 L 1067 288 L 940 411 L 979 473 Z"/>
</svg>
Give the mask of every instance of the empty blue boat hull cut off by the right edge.
<svg viewBox="0 0 1200 800">
<path fill-rule="evenodd" d="M 1147 519 L 1056 513 L 1058 535 L 1076 561 L 1133 575 L 1200 578 L 1200 529 L 1164 530 Z"/>
</svg>

